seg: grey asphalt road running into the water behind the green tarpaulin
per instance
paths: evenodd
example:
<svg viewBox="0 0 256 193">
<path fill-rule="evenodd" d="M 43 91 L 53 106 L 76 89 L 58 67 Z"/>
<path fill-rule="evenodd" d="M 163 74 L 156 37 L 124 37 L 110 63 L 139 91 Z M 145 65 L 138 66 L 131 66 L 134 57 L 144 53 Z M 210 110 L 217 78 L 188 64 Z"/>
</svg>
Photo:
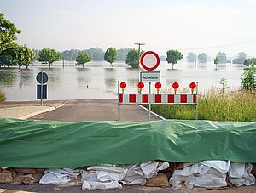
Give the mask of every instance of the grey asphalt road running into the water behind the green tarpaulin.
<svg viewBox="0 0 256 193">
<path fill-rule="evenodd" d="M 119 105 L 120 121 L 149 121 L 149 113 L 138 105 Z M 29 119 L 61 122 L 117 121 L 118 104 L 116 100 L 68 100 L 65 105 Z M 160 120 L 151 114 L 150 121 Z"/>
</svg>

